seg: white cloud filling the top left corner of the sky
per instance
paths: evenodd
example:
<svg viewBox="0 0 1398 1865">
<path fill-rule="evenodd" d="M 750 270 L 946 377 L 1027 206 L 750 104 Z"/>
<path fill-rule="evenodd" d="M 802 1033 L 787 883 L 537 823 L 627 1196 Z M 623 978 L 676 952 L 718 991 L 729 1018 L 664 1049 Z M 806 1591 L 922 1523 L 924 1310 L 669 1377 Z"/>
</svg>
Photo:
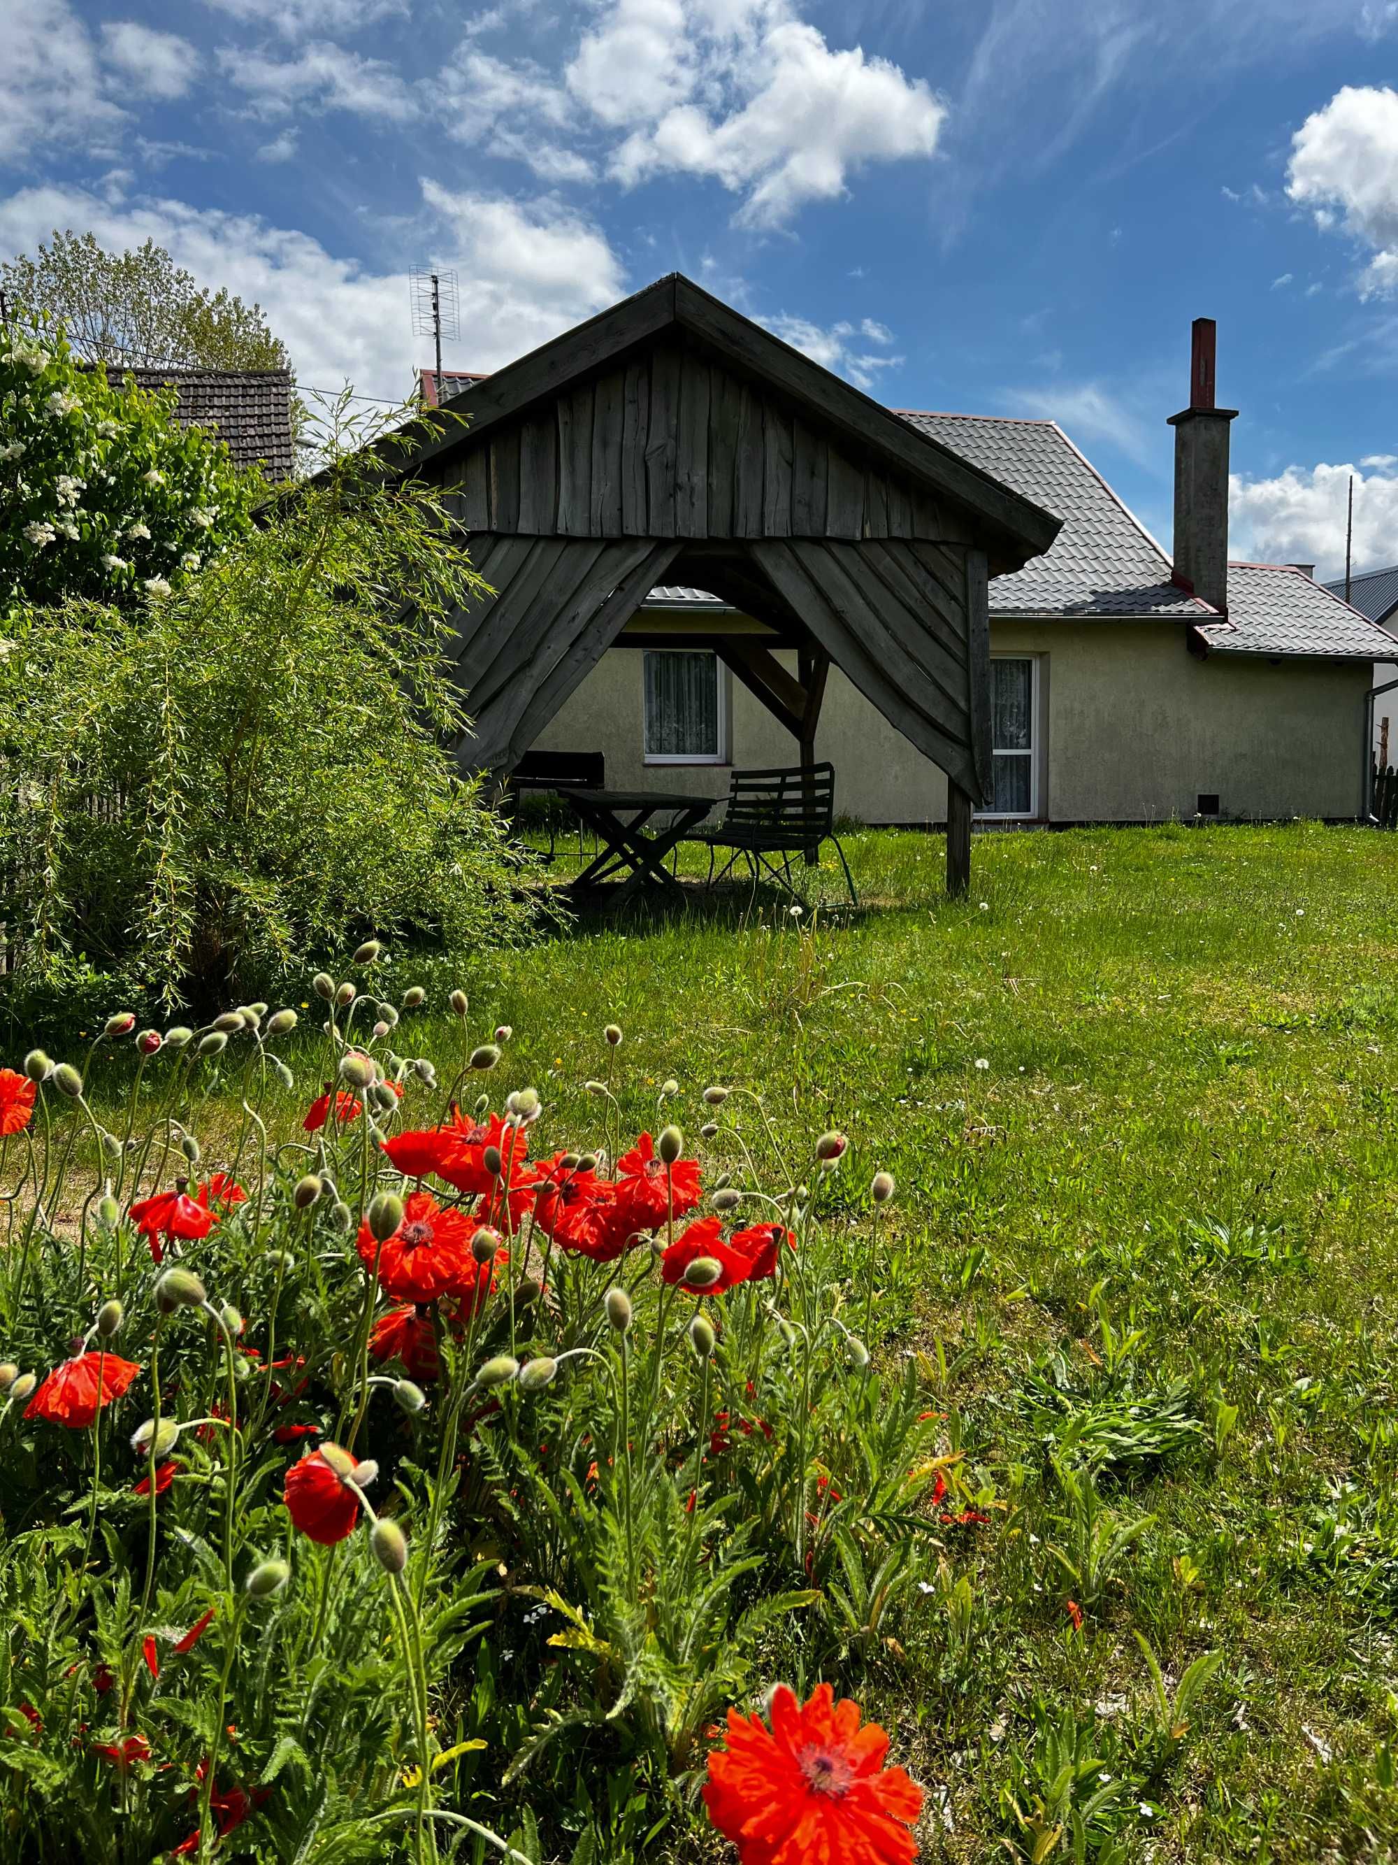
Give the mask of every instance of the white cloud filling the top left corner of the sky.
<svg viewBox="0 0 1398 1865">
<path fill-rule="evenodd" d="M 88 28 L 67 0 L 0 0 L 0 162 L 43 144 L 112 153 L 125 110 L 103 95 Z"/>
</svg>

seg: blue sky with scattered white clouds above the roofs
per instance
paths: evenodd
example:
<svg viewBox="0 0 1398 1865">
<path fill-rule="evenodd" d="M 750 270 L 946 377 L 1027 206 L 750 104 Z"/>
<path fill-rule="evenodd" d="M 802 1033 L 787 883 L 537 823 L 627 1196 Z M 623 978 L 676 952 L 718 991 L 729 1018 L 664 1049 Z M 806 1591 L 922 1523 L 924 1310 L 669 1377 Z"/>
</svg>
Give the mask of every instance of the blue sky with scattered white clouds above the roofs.
<svg viewBox="0 0 1398 1865">
<path fill-rule="evenodd" d="M 1236 554 L 1398 561 L 1398 0 L 0 0 L 0 252 L 155 237 L 403 395 L 682 270 L 898 407 L 1059 420 L 1169 543 L 1219 319 Z"/>
</svg>

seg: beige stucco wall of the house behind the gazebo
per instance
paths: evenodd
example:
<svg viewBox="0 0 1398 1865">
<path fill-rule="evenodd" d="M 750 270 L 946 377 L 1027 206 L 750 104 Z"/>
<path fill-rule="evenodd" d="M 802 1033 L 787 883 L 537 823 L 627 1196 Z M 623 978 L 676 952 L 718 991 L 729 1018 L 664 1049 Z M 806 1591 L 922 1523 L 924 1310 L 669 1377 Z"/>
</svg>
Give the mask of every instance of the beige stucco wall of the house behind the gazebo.
<svg viewBox="0 0 1398 1865">
<path fill-rule="evenodd" d="M 1174 623 L 992 623 L 992 653 L 1040 658 L 1040 815 L 1051 822 L 1193 817 L 1215 791 L 1225 817 L 1353 817 L 1361 808 L 1364 694 L 1357 662 L 1187 653 Z M 794 656 L 783 656 L 794 671 Z M 729 763 L 796 763 L 796 742 L 729 688 Z M 641 653 L 611 649 L 539 739 L 606 753 L 611 787 L 723 796 L 725 765 L 647 765 Z M 835 765 L 835 808 L 867 822 L 939 822 L 943 774 L 831 670 L 816 755 Z"/>
</svg>

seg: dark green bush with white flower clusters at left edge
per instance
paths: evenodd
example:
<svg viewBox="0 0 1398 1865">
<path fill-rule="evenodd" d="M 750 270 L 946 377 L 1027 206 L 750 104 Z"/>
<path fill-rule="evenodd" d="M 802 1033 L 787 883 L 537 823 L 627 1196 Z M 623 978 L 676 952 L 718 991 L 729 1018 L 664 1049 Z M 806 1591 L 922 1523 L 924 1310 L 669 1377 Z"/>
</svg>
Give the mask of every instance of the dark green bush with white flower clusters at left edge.
<svg viewBox="0 0 1398 1865">
<path fill-rule="evenodd" d="M 257 487 L 175 423 L 173 390 L 112 388 L 41 323 L 0 330 L 0 606 L 158 601 L 246 530 Z"/>
</svg>

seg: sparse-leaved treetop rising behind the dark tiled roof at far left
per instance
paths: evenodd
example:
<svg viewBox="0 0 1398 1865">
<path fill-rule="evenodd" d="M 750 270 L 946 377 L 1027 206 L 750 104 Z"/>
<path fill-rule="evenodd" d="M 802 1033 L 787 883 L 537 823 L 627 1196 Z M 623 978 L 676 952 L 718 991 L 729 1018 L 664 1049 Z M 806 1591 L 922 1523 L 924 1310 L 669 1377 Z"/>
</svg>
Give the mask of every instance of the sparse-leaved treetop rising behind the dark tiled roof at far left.
<svg viewBox="0 0 1398 1865">
<path fill-rule="evenodd" d="M 112 254 L 91 233 L 54 231 L 35 257 L 0 265 L 11 310 L 63 325 L 86 362 L 140 369 L 287 369 L 259 304 L 209 291 L 145 241 Z"/>
</svg>

